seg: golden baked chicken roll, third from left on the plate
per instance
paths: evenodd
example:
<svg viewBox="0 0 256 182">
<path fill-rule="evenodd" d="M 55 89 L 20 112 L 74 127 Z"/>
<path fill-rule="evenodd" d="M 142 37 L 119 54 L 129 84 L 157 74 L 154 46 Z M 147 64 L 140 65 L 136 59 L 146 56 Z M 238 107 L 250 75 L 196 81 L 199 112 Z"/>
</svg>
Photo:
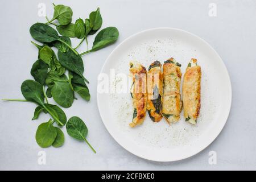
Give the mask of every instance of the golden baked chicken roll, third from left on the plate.
<svg viewBox="0 0 256 182">
<path fill-rule="evenodd" d="M 182 107 L 180 97 L 180 72 L 181 64 L 177 63 L 174 58 L 164 61 L 163 64 L 163 105 L 162 115 L 166 121 L 175 123 L 180 119 Z"/>
</svg>

